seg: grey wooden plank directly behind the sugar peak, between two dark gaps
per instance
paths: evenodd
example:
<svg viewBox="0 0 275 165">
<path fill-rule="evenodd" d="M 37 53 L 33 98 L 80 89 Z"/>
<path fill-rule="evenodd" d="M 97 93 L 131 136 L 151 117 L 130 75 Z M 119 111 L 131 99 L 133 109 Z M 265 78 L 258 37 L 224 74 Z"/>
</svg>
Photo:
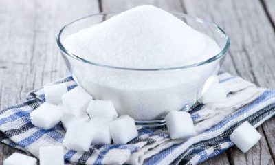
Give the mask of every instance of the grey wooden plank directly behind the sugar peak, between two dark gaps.
<svg viewBox="0 0 275 165">
<path fill-rule="evenodd" d="M 186 12 L 184 5 L 181 1 L 173 0 L 173 1 L 166 1 L 166 0 L 118 0 L 118 1 L 108 1 L 102 0 L 102 11 L 103 12 L 110 12 L 110 11 L 119 11 L 119 10 L 127 10 L 129 8 L 133 8 L 137 5 L 155 5 L 159 8 L 162 8 L 166 11 L 174 11 L 174 12 Z M 225 61 L 226 63 L 226 61 Z M 227 155 L 221 154 L 218 157 L 214 157 L 205 162 L 205 164 L 229 164 Z"/>
</svg>

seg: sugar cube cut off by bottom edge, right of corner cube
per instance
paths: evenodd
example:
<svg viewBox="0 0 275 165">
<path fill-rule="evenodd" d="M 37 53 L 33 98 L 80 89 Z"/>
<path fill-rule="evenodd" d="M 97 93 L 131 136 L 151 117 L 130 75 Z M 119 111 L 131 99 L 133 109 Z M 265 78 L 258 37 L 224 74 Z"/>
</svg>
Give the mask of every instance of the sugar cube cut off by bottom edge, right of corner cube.
<svg viewBox="0 0 275 165">
<path fill-rule="evenodd" d="M 62 146 L 42 146 L 39 148 L 40 165 L 64 165 Z"/>
</svg>

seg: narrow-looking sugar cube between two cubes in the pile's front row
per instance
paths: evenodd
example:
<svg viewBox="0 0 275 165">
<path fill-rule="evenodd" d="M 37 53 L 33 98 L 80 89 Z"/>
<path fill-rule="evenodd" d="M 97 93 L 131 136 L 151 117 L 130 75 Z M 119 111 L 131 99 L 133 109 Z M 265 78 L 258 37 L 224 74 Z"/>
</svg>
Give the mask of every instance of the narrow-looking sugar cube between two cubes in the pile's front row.
<svg viewBox="0 0 275 165">
<path fill-rule="evenodd" d="M 109 124 L 93 123 L 95 133 L 92 144 L 111 144 Z"/>
</svg>

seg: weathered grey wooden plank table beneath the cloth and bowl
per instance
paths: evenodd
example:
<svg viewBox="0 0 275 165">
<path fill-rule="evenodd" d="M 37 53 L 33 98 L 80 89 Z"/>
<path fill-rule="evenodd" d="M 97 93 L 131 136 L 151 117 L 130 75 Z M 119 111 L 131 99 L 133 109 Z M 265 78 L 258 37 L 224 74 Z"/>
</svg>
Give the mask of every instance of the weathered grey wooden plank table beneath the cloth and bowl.
<svg viewBox="0 0 275 165">
<path fill-rule="evenodd" d="M 275 89 L 274 0 L 0 0 L 0 109 L 23 102 L 28 91 L 68 74 L 56 45 L 65 23 L 142 4 L 217 23 L 232 41 L 223 68 Z M 263 138 L 248 153 L 233 147 L 204 164 L 274 164 L 275 118 L 258 131 Z M 14 151 L 0 144 L 0 163 Z"/>
</svg>

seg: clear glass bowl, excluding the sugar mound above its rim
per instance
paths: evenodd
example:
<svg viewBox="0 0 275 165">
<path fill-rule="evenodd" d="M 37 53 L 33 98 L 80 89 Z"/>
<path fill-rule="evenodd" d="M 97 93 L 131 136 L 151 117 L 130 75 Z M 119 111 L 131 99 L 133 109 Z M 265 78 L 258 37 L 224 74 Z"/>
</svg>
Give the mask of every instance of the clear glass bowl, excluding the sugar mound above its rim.
<svg viewBox="0 0 275 165">
<path fill-rule="evenodd" d="M 199 63 L 154 69 L 94 63 L 73 54 L 64 46 L 63 41 L 69 34 L 101 23 L 118 13 L 92 14 L 65 25 L 59 32 L 58 47 L 76 83 L 95 99 L 111 100 L 119 115 L 131 116 L 136 124 L 162 125 L 169 111 L 189 111 L 219 72 L 230 47 L 228 35 L 214 23 L 172 12 L 195 30 L 214 39 L 221 52 Z"/>
</svg>

